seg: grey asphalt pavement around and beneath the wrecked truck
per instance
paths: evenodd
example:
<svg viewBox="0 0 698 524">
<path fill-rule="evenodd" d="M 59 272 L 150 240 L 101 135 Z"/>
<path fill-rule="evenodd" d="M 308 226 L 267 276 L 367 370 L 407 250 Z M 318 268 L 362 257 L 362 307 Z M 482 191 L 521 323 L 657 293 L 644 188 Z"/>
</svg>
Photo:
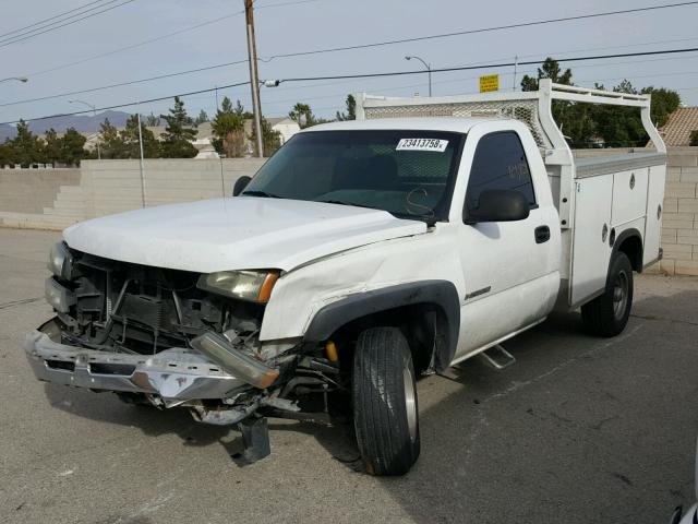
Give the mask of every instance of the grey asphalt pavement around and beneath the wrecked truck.
<svg viewBox="0 0 698 524">
<path fill-rule="evenodd" d="M 663 523 L 691 503 L 698 278 L 642 275 L 613 340 L 555 315 L 418 384 L 422 454 L 401 478 L 361 472 L 349 425 L 273 420 L 241 467 L 234 429 L 37 382 L 25 333 L 58 234 L 0 229 L 0 522 Z"/>
</svg>

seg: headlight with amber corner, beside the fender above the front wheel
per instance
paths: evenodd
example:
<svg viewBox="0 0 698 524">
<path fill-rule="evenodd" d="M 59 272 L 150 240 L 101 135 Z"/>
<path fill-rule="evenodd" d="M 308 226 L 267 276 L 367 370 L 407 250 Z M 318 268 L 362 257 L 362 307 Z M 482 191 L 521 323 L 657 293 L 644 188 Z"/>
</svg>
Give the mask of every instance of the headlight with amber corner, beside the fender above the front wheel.
<svg viewBox="0 0 698 524">
<path fill-rule="evenodd" d="M 277 271 L 220 271 L 201 275 L 196 287 L 226 297 L 252 302 L 268 302 L 279 273 Z"/>
</svg>

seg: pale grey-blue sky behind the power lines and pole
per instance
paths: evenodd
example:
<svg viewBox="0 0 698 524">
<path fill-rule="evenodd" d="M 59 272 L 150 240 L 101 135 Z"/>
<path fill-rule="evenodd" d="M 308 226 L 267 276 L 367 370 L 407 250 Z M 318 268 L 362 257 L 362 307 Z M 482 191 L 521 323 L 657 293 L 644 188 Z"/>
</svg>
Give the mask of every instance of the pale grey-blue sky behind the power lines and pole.
<svg viewBox="0 0 698 524">
<path fill-rule="evenodd" d="M 106 0 L 103 0 L 106 1 Z M 118 5 L 125 0 L 112 2 Z M 2 1 L 0 35 L 79 8 L 88 0 Z M 587 0 L 583 2 L 527 0 L 256 0 L 255 22 L 260 78 L 290 79 L 353 73 L 410 71 L 419 56 L 432 68 L 542 60 L 565 57 L 698 47 L 698 4 L 404 43 L 377 48 L 305 57 L 272 58 L 279 53 L 352 46 L 382 40 L 516 24 L 604 11 L 635 9 L 671 0 Z M 105 8 L 106 9 L 106 8 Z M 79 98 L 99 107 L 206 90 L 249 80 L 242 0 L 132 0 L 72 25 L 8 44 L 0 36 L 0 80 L 27 76 L 27 83 L 0 82 L 0 122 L 84 109 L 69 103 Z M 198 26 L 198 27 L 194 27 Z M 193 27 L 193 28 L 192 28 Z M 178 33 L 173 36 L 165 36 Z M 139 45 L 145 40 L 155 40 Z M 137 46 L 136 46 L 137 45 Z M 127 46 L 131 49 L 120 50 Z M 108 53 L 108 55 L 107 55 Z M 94 58 L 98 57 L 98 58 Z M 120 86 L 41 102 L 12 104 L 149 76 L 242 61 L 237 66 Z M 81 62 L 72 64 L 73 62 Z M 563 66 L 565 63 L 563 62 Z M 636 87 L 677 90 L 686 105 L 698 105 L 698 51 L 671 56 L 618 58 L 566 64 L 573 82 L 606 87 L 628 79 Z M 534 66 L 518 68 L 533 73 Z M 52 71 L 49 71 L 52 70 Z M 501 90 L 514 88 L 513 68 L 434 73 L 433 94 L 476 93 L 480 74 L 498 73 Z M 518 82 L 517 82 L 518 83 Z M 351 81 L 287 82 L 262 87 L 267 117 L 288 114 L 297 102 L 310 104 L 315 115 L 334 117 L 345 108 L 348 93 L 395 96 L 428 94 L 426 74 Z M 248 85 L 218 90 L 250 107 Z M 184 97 L 190 115 L 201 109 L 213 116 L 216 93 Z M 171 99 L 121 110 L 160 115 Z"/>
</svg>

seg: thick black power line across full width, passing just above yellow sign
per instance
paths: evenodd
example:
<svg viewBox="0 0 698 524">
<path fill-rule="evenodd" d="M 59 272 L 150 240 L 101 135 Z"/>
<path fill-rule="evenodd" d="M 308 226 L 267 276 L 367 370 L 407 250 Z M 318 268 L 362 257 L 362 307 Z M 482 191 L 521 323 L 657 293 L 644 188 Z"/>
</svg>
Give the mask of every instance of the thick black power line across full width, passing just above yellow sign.
<svg viewBox="0 0 698 524">
<path fill-rule="evenodd" d="M 684 48 L 684 49 L 665 49 L 665 50 L 659 50 L 659 51 L 639 51 L 639 52 L 623 52 L 623 53 L 614 53 L 614 55 L 595 55 L 595 56 L 587 56 L 587 57 L 571 57 L 571 58 L 566 58 L 563 60 L 559 60 L 561 62 L 577 62 L 577 61 L 583 61 L 583 60 L 603 60 L 603 59 L 611 59 L 611 58 L 623 58 L 623 57 L 643 57 L 643 56 L 655 56 L 655 55 L 673 55 L 673 53 L 682 53 L 682 52 L 693 52 L 693 51 L 698 51 L 698 48 Z M 452 67 L 452 68 L 440 68 L 440 69 L 432 69 L 432 73 L 444 73 L 444 72 L 452 72 L 452 71 L 471 71 L 471 70 L 477 70 L 477 69 L 495 69 L 495 68 L 508 68 L 508 67 L 514 67 L 514 66 L 537 66 L 540 64 L 539 60 L 528 60 L 528 61 L 521 61 L 521 62 L 500 62 L 500 63 L 490 63 L 490 64 L 480 64 L 480 66 L 458 66 L 458 67 Z M 359 73 L 359 74 L 341 74 L 341 75 L 326 75 L 326 76 L 305 76 L 305 78 L 294 78 L 294 79 L 280 79 L 279 82 L 285 83 L 285 82 L 313 82 L 313 81 L 320 81 L 320 80 L 348 80 L 348 79 L 370 79 L 370 78 L 383 78 L 383 76 L 404 76 L 407 74 L 424 74 L 426 71 L 425 70 L 413 70 L 413 71 L 393 71 L 393 72 L 383 72 L 383 73 Z M 158 98 L 153 98 L 153 99 L 148 99 L 148 100 L 140 100 L 140 102 L 131 102 L 131 103 L 127 103 L 127 104 L 120 104 L 120 105 L 116 105 L 116 106 L 109 106 L 109 107 L 101 107 L 95 110 L 107 110 L 107 109 L 115 109 L 118 107 L 128 107 L 128 106 L 133 106 L 133 105 L 137 105 L 137 104 L 147 104 L 151 102 L 159 102 L 159 100 L 166 100 L 168 98 L 173 98 L 174 96 L 189 96 L 189 95 L 195 95 L 195 94 L 200 94 L 200 93 L 212 93 L 216 90 L 225 90 L 225 88 L 229 88 L 229 87 L 237 87 L 240 85 L 245 85 L 249 84 L 250 82 L 239 82 L 237 84 L 229 84 L 229 85 L 221 85 L 221 86 L 216 86 L 216 87 L 209 87 L 206 90 L 200 90 L 200 91 L 194 91 L 194 92 L 190 92 L 190 93 L 180 93 L 177 95 L 169 95 L 169 96 L 163 96 L 163 97 L 158 97 Z M 85 111 L 76 111 L 76 112 L 67 112 L 67 114 L 61 114 L 61 115 L 52 115 L 50 117 L 37 117 L 37 118 L 33 118 L 29 120 L 45 120 L 47 118 L 55 118 L 55 117 L 61 117 L 61 116 L 71 116 L 71 115 L 82 115 L 84 112 L 91 112 L 88 110 Z M 16 123 L 17 120 L 12 120 L 9 122 L 0 122 L 0 123 Z"/>
</svg>

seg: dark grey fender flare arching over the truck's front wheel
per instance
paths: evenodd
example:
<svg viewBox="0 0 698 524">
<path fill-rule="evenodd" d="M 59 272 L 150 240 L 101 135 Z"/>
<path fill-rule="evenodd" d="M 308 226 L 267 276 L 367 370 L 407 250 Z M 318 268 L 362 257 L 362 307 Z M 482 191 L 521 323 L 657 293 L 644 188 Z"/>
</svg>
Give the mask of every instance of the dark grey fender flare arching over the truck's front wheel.
<svg viewBox="0 0 698 524">
<path fill-rule="evenodd" d="M 448 281 L 419 281 L 356 293 L 328 303 L 312 318 L 303 341 L 321 343 L 342 325 L 362 317 L 404 306 L 433 305 L 446 319 L 441 333 L 444 344 L 436 345 L 435 366 L 438 371 L 453 361 L 460 331 L 460 299 L 456 286 Z"/>
</svg>

